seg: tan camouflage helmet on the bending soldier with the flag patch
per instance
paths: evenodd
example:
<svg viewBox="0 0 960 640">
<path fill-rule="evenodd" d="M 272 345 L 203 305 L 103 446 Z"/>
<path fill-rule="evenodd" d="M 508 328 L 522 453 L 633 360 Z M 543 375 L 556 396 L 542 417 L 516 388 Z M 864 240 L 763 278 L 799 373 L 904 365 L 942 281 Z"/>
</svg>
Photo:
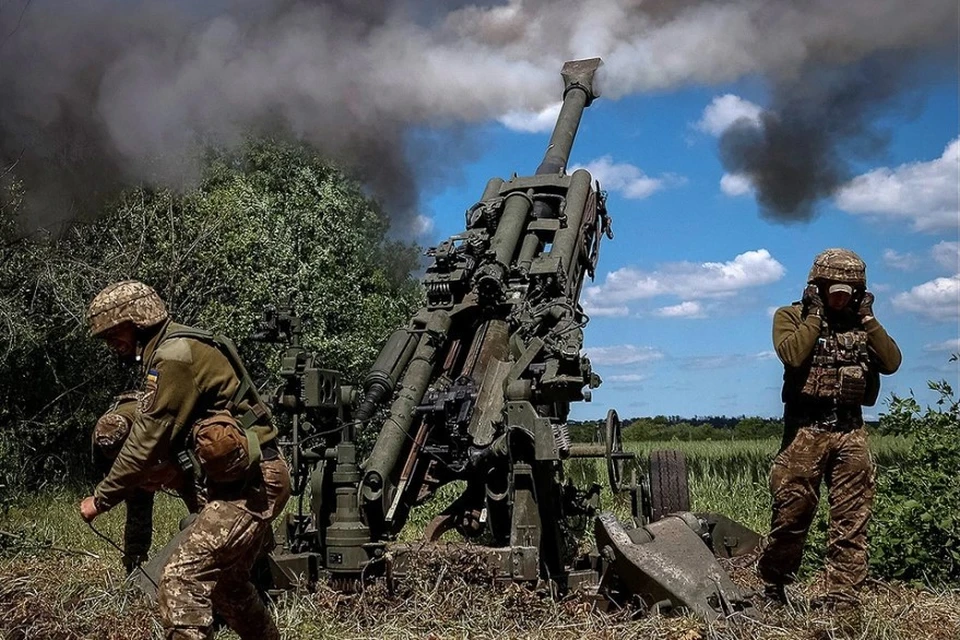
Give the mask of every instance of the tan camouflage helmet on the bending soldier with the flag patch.
<svg viewBox="0 0 960 640">
<path fill-rule="evenodd" d="M 108 285 L 87 309 L 90 335 L 98 336 L 124 322 L 145 329 L 170 317 L 157 292 L 142 282 L 124 280 Z"/>
</svg>

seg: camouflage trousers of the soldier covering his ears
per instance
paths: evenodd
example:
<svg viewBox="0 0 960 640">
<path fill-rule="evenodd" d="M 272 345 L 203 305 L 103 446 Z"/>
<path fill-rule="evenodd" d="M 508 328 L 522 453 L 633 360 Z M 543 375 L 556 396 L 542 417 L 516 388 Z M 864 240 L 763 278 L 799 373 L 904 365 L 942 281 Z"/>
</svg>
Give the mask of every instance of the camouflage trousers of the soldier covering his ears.
<svg viewBox="0 0 960 640">
<path fill-rule="evenodd" d="M 866 430 L 808 425 L 782 448 L 770 472 L 773 517 L 757 566 L 766 582 L 794 580 L 824 481 L 830 506 L 827 589 L 849 594 L 866 579 L 867 523 L 875 494 Z"/>
</svg>

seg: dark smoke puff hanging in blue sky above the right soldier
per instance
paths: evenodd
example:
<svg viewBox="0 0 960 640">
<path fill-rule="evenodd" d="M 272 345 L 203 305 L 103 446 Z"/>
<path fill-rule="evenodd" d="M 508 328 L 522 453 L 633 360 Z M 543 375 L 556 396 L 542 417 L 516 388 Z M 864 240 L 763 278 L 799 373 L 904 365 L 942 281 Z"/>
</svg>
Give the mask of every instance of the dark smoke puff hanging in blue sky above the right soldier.
<svg viewBox="0 0 960 640">
<path fill-rule="evenodd" d="M 851 160 L 879 155 L 888 133 L 878 117 L 914 104 L 929 61 L 877 54 L 839 67 L 814 66 L 773 87 L 759 122 L 741 118 L 720 137 L 720 158 L 747 176 L 761 214 L 803 222 L 853 177 Z"/>
</svg>

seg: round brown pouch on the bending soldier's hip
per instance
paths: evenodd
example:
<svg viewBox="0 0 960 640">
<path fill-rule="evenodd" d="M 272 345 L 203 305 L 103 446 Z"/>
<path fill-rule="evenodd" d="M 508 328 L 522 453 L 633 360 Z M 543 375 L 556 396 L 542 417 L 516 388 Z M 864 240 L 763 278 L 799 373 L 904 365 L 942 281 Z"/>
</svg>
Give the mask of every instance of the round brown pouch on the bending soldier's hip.
<svg viewBox="0 0 960 640">
<path fill-rule="evenodd" d="M 250 467 L 260 460 L 260 442 L 256 433 L 241 429 L 227 411 L 197 422 L 192 437 L 197 461 L 214 482 L 242 480 Z"/>
</svg>

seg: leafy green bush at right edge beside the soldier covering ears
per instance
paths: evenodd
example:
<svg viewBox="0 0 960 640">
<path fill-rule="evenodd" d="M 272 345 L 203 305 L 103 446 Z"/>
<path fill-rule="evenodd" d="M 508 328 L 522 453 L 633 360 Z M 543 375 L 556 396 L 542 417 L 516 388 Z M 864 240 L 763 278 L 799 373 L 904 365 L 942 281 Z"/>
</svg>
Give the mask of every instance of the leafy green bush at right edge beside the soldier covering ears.
<svg viewBox="0 0 960 640">
<path fill-rule="evenodd" d="M 940 395 L 935 407 L 921 411 L 912 396 L 894 396 L 881 418 L 885 431 L 909 435 L 913 444 L 901 464 L 878 477 L 870 564 L 883 578 L 957 585 L 960 410 L 946 381 L 929 385 Z"/>
</svg>

